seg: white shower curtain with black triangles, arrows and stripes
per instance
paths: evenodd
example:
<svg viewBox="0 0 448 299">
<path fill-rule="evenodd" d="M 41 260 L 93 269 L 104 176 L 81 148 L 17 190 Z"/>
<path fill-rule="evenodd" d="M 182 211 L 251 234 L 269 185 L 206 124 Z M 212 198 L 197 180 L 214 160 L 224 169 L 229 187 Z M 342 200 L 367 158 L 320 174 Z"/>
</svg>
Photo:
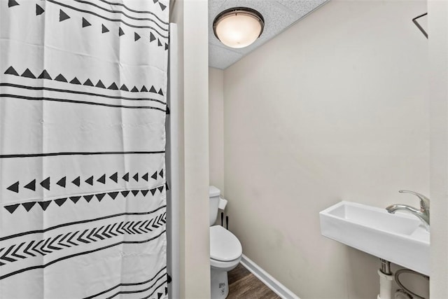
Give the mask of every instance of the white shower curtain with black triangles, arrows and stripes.
<svg viewBox="0 0 448 299">
<path fill-rule="evenodd" d="M 169 0 L 0 0 L 0 298 L 167 298 Z"/>
</svg>

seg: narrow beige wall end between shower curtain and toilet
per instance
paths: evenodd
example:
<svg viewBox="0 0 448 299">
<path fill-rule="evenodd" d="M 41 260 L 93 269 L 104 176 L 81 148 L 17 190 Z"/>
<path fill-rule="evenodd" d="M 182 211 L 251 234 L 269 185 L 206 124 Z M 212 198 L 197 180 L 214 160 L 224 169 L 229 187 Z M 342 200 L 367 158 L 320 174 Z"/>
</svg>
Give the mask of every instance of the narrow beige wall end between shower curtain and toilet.
<svg viewBox="0 0 448 299">
<path fill-rule="evenodd" d="M 210 297 L 207 0 L 176 0 L 179 27 L 180 294 Z M 194 76 L 192 76 L 194 74 Z"/>
</svg>

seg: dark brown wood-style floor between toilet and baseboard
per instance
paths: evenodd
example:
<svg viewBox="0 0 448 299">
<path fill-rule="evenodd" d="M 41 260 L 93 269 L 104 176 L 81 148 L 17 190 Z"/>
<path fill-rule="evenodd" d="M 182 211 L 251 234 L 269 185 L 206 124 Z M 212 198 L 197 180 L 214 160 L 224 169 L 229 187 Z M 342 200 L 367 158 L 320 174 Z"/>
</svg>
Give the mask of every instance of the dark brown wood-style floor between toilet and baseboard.
<svg viewBox="0 0 448 299">
<path fill-rule="evenodd" d="M 241 264 L 228 272 L 228 299 L 280 299 Z"/>
</svg>

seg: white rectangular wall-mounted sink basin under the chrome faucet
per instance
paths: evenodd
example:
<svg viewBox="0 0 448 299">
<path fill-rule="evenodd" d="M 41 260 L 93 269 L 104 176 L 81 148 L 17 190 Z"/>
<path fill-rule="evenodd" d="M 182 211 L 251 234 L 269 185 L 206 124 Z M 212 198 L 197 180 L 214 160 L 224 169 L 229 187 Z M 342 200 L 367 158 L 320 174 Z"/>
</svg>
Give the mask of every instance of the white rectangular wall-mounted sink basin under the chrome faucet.
<svg viewBox="0 0 448 299">
<path fill-rule="evenodd" d="M 346 201 L 319 216 L 323 236 L 429 276 L 430 235 L 419 218 Z"/>
</svg>

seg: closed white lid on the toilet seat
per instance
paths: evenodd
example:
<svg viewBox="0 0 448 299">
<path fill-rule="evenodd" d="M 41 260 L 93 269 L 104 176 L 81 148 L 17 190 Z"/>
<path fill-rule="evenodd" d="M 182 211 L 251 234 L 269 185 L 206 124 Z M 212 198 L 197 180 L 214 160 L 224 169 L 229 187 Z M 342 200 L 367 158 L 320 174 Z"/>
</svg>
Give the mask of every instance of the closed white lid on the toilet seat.
<svg viewBox="0 0 448 299">
<path fill-rule="evenodd" d="M 214 260 L 236 260 L 243 253 L 239 239 L 221 225 L 210 227 L 210 257 Z"/>
</svg>

